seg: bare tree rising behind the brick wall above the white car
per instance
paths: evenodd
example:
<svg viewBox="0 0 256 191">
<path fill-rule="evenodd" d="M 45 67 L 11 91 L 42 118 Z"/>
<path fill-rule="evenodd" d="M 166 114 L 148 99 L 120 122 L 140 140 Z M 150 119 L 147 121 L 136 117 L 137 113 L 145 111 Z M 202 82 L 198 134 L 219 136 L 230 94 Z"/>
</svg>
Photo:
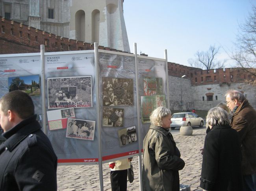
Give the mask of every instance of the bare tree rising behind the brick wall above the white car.
<svg viewBox="0 0 256 191">
<path fill-rule="evenodd" d="M 190 58 L 187 62 L 192 67 L 198 67 L 202 69 L 218 69 L 223 68 L 226 60 L 217 60 L 216 55 L 219 53 L 220 47 L 210 45 L 208 51 L 197 51 L 195 58 Z"/>
</svg>

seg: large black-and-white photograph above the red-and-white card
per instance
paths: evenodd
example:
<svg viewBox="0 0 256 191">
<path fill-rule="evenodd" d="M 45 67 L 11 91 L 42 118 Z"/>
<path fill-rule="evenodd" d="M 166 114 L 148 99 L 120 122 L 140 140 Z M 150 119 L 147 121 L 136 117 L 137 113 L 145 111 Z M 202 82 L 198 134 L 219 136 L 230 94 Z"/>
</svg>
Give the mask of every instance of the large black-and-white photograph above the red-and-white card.
<svg viewBox="0 0 256 191">
<path fill-rule="evenodd" d="M 47 78 L 48 109 L 93 107 L 91 76 Z"/>
</svg>

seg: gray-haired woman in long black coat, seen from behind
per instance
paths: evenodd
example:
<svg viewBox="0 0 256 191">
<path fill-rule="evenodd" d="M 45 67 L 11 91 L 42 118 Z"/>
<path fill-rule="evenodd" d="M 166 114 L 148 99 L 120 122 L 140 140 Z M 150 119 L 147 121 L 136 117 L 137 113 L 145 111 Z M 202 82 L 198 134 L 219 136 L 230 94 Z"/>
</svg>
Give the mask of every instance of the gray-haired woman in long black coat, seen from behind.
<svg viewBox="0 0 256 191">
<path fill-rule="evenodd" d="M 210 191 L 243 190 L 239 136 L 229 126 L 230 116 L 221 107 L 208 111 L 209 131 L 204 141 L 200 187 Z"/>
</svg>

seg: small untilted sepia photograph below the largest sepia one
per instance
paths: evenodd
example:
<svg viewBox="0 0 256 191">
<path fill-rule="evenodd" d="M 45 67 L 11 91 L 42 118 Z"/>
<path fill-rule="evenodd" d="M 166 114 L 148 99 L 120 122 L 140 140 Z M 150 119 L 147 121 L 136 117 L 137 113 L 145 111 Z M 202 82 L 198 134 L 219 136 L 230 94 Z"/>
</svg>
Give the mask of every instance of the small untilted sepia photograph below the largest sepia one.
<svg viewBox="0 0 256 191">
<path fill-rule="evenodd" d="M 122 127 L 124 124 L 124 109 L 103 107 L 103 126 Z"/>
</svg>

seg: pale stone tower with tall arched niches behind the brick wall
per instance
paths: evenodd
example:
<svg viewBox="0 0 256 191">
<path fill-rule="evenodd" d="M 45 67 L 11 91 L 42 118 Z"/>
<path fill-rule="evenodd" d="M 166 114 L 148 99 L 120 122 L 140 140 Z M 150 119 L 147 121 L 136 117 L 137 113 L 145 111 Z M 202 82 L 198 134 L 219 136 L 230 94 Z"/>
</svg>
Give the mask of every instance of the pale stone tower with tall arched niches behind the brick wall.
<svg viewBox="0 0 256 191">
<path fill-rule="evenodd" d="M 72 0 L 69 38 L 130 52 L 123 0 Z"/>
</svg>

